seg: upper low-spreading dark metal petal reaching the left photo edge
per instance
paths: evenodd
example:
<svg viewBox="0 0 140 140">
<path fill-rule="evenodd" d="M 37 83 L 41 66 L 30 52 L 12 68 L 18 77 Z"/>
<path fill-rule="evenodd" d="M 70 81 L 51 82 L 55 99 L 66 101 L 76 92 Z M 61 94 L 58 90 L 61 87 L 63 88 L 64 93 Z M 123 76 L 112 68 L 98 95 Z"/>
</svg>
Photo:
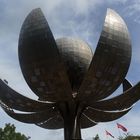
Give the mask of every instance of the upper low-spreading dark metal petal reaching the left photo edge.
<svg viewBox="0 0 140 140">
<path fill-rule="evenodd" d="M 5 84 L 0 79 L 0 101 L 10 108 L 25 111 L 25 112 L 36 112 L 45 109 L 52 108 L 55 104 L 53 103 L 43 103 L 29 99 L 13 89 L 11 89 L 7 84 Z"/>
</svg>

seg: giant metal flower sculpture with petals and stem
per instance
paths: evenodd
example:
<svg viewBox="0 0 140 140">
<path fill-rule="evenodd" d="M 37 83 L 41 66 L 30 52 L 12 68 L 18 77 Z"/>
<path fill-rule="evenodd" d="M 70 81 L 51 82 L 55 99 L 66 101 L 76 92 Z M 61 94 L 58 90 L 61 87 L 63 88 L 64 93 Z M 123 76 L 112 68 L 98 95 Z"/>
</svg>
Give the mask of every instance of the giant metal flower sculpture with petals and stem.
<svg viewBox="0 0 140 140">
<path fill-rule="evenodd" d="M 64 128 L 65 140 L 81 139 L 81 128 L 118 119 L 140 99 L 140 83 L 132 87 L 125 79 L 130 60 L 128 29 L 115 11 L 107 10 L 93 55 L 81 40 L 55 40 L 41 10 L 34 9 L 21 28 L 19 61 L 39 99 L 29 99 L 0 80 L 1 106 L 18 121 Z M 120 84 L 124 93 L 105 99 Z"/>
</svg>

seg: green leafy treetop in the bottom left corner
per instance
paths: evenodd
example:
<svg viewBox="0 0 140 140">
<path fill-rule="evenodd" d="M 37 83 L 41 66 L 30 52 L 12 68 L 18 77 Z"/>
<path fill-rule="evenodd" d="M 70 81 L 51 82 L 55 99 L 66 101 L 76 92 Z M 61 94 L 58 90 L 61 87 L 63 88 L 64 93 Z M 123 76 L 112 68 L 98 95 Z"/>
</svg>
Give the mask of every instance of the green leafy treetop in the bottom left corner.
<svg viewBox="0 0 140 140">
<path fill-rule="evenodd" d="M 0 140 L 29 140 L 29 137 L 15 132 L 15 130 L 14 125 L 6 124 L 3 129 L 0 128 Z"/>
</svg>

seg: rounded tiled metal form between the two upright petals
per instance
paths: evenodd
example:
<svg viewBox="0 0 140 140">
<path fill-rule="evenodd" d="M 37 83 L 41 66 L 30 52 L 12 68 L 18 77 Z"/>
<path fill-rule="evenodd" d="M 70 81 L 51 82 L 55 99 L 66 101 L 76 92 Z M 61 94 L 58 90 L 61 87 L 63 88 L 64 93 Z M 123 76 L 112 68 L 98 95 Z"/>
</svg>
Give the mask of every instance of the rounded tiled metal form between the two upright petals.
<svg viewBox="0 0 140 140">
<path fill-rule="evenodd" d="M 82 40 L 60 38 L 56 40 L 64 61 L 73 92 L 77 92 L 93 57 L 89 45 Z"/>
</svg>

